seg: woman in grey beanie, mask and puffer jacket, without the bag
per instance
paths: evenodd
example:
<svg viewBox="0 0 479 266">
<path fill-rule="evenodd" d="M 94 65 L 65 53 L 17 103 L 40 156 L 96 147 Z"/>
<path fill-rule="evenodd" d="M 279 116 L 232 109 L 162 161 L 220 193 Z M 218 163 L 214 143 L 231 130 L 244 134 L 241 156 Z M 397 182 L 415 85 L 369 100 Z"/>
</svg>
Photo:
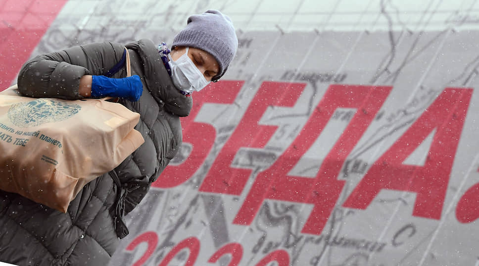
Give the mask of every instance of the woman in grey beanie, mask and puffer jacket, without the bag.
<svg viewBox="0 0 479 266">
<path fill-rule="evenodd" d="M 20 70 L 18 88 L 26 96 L 120 98 L 120 104 L 140 113 L 136 129 L 145 142 L 113 171 L 87 184 L 67 213 L 0 191 L 0 262 L 106 265 L 119 238 L 128 234 L 123 216 L 178 152 L 179 117 L 190 113 L 192 92 L 225 74 L 238 39 L 227 16 L 208 10 L 188 18 L 171 53 L 150 40 L 125 47 L 131 77 L 125 77 L 124 67 L 114 67 L 124 59 L 124 46 L 109 42 L 39 55 Z"/>
</svg>

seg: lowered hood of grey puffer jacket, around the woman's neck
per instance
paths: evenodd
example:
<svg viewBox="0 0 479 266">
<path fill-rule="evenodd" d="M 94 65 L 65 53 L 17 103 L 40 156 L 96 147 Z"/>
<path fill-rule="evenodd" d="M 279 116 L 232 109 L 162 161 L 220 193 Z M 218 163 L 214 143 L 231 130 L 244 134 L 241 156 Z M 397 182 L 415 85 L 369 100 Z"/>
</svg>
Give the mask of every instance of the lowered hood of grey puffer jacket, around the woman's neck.
<svg viewBox="0 0 479 266">
<path fill-rule="evenodd" d="M 144 82 L 153 98 L 171 113 L 188 116 L 193 105 L 192 97 L 186 97 L 175 87 L 153 41 L 142 39 L 125 47 L 140 55 L 144 66 Z"/>
</svg>

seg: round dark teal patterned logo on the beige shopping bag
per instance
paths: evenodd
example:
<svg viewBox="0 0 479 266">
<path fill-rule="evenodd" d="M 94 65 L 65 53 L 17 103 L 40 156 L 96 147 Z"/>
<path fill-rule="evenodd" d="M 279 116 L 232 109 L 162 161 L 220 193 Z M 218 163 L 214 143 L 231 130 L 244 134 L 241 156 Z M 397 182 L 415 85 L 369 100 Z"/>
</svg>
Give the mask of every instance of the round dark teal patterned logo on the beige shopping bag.
<svg viewBox="0 0 479 266">
<path fill-rule="evenodd" d="M 81 108 L 76 104 L 37 99 L 27 103 L 13 104 L 8 110 L 8 118 L 16 126 L 32 127 L 68 119 L 78 113 Z"/>
</svg>

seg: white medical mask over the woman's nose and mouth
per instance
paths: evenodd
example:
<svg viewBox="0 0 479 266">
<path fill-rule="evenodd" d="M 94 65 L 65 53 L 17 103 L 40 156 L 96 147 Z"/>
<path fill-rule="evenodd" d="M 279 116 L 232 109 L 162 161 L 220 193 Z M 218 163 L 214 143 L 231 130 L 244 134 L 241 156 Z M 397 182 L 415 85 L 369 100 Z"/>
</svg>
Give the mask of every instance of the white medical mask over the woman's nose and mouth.
<svg viewBox="0 0 479 266">
<path fill-rule="evenodd" d="M 189 47 L 186 48 L 185 54 L 180 56 L 176 61 L 168 54 L 168 62 L 171 68 L 171 79 L 173 84 L 179 89 L 187 93 L 201 91 L 210 82 L 207 81 L 199 69 L 194 65 L 190 56 L 188 56 Z"/>
</svg>

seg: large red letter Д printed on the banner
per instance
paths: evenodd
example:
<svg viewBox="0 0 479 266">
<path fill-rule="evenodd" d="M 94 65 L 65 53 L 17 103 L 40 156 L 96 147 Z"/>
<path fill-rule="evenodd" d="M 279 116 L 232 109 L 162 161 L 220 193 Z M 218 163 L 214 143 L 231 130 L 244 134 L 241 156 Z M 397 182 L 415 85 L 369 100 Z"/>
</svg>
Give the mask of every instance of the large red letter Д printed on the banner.
<svg viewBox="0 0 479 266">
<path fill-rule="evenodd" d="M 265 199 L 309 203 L 314 204 L 314 208 L 302 233 L 320 234 L 344 185 L 344 181 L 336 179 L 344 160 L 376 116 L 390 90 L 391 87 L 331 85 L 286 152 L 269 169 L 258 174 L 234 223 L 250 224 Z M 339 107 L 356 108 L 357 111 L 323 160 L 317 176 L 287 175 Z"/>
</svg>

